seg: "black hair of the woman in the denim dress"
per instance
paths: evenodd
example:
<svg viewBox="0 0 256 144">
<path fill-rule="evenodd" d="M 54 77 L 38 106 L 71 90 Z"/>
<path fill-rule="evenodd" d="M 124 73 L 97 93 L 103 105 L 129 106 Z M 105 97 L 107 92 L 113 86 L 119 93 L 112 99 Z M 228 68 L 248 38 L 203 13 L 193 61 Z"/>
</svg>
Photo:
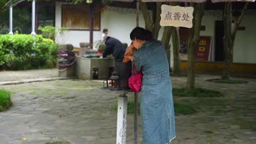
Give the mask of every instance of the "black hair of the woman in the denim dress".
<svg viewBox="0 0 256 144">
<path fill-rule="evenodd" d="M 148 31 L 147 29 L 144 29 L 142 27 L 136 27 L 132 29 L 132 32 L 130 33 L 130 39 L 139 39 L 139 40 L 153 40 L 153 34 L 152 32 Z"/>
</svg>

